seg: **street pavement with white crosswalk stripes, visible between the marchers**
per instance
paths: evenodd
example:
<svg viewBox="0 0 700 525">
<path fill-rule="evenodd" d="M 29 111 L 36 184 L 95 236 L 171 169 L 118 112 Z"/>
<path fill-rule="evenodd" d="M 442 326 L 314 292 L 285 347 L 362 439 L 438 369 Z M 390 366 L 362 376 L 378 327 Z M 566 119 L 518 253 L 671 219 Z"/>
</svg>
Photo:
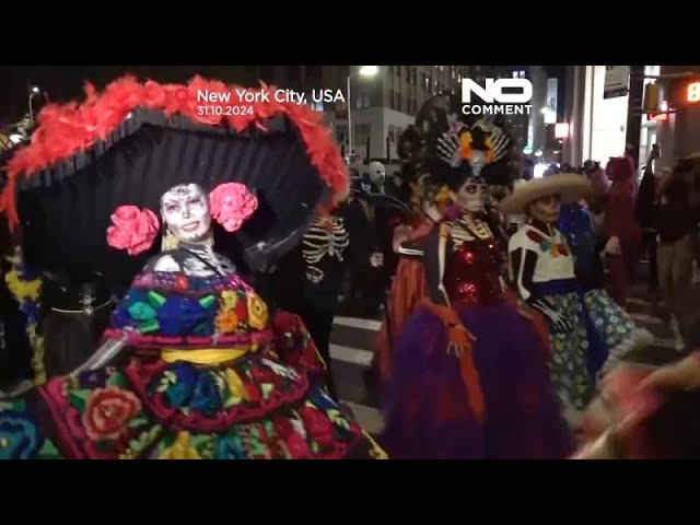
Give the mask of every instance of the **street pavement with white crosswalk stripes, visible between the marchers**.
<svg viewBox="0 0 700 525">
<path fill-rule="evenodd" d="M 654 342 L 650 347 L 633 350 L 626 361 L 657 366 L 681 355 L 674 349 L 670 328 L 655 315 L 643 285 L 632 287 L 628 311 L 635 323 L 654 335 Z M 352 409 L 360 424 L 372 433 L 380 433 L 384 424 L 377 393 L 374 385 L 368 384 L 380 326 L 380 320 L 336 317 L 330 346 L 338 394 Z"/>
</svg>

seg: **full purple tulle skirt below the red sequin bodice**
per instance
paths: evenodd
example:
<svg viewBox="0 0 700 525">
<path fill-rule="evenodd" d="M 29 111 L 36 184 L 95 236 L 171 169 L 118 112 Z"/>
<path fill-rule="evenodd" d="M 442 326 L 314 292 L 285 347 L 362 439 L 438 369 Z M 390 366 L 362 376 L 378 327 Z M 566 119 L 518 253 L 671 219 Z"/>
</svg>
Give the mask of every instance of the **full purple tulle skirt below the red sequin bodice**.
<svg viewBox="0 0 700 525">
<path fill-rule="evenodd" d="M 476 421 L 441 319 L 419 307 L 395 341 L 383 404 L 383 444 L 392 458 L 564 458 L 572 436 L 549 383 L 533 325 L 509 303 L 457 307 L 476 337 L 486 398 Z"/>
</svg>

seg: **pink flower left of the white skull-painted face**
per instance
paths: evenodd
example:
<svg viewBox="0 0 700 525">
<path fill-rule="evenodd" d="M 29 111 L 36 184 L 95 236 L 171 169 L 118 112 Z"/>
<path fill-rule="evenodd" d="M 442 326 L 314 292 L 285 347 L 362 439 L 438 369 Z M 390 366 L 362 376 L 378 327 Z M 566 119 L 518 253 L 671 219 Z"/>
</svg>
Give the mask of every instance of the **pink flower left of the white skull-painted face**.
<svg viewBox="0 0 700 525">
<path fill-rule="evenodd" d="M 153 245 L 160 224 L 151 210 L 136 206 L 120 206 L 112 214 L 112 226 L 107 229 L 107 244 L 126 249 L 129 255 L 139 255 Z"/>
</svg>

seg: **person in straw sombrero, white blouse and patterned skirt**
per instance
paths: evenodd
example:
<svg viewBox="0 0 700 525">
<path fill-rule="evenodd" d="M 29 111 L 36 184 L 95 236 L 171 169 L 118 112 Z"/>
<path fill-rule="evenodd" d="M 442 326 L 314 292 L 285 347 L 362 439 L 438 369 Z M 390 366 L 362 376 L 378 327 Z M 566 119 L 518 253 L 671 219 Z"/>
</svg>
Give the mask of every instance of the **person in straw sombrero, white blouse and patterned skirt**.
<svg viewBox="0 0 700 525">
<path fill-rule="evenodd" d="M 550 373 L 571 424 L 591 400 L 596 376 L 629 350 L 637 328 L 627 313 L 598 289 L 584 291 L 574 256 L 556 228 L 562 202 L 591 191 L 578 174 L 529 180 L 501 201 L 505 213 L 526 213 L 528 222 L 509 241 L 511 278 L 521 299 L 547 320 Z"/>
</svg>

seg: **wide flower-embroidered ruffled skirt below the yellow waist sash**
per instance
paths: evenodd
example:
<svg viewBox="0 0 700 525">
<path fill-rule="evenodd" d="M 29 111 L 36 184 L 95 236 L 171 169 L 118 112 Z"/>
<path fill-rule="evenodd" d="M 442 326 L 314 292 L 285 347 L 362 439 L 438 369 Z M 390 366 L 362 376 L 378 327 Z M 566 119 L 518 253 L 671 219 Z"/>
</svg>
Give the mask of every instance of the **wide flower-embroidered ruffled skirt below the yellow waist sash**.
<svg viewBox="0 0 700 525">
<path fill-rule="evenodd" d="M 133 360 L 0 405 L 0 459 L 385 457 L 320 388 L 255 354 L 220 366 Z"/>
</svg>

